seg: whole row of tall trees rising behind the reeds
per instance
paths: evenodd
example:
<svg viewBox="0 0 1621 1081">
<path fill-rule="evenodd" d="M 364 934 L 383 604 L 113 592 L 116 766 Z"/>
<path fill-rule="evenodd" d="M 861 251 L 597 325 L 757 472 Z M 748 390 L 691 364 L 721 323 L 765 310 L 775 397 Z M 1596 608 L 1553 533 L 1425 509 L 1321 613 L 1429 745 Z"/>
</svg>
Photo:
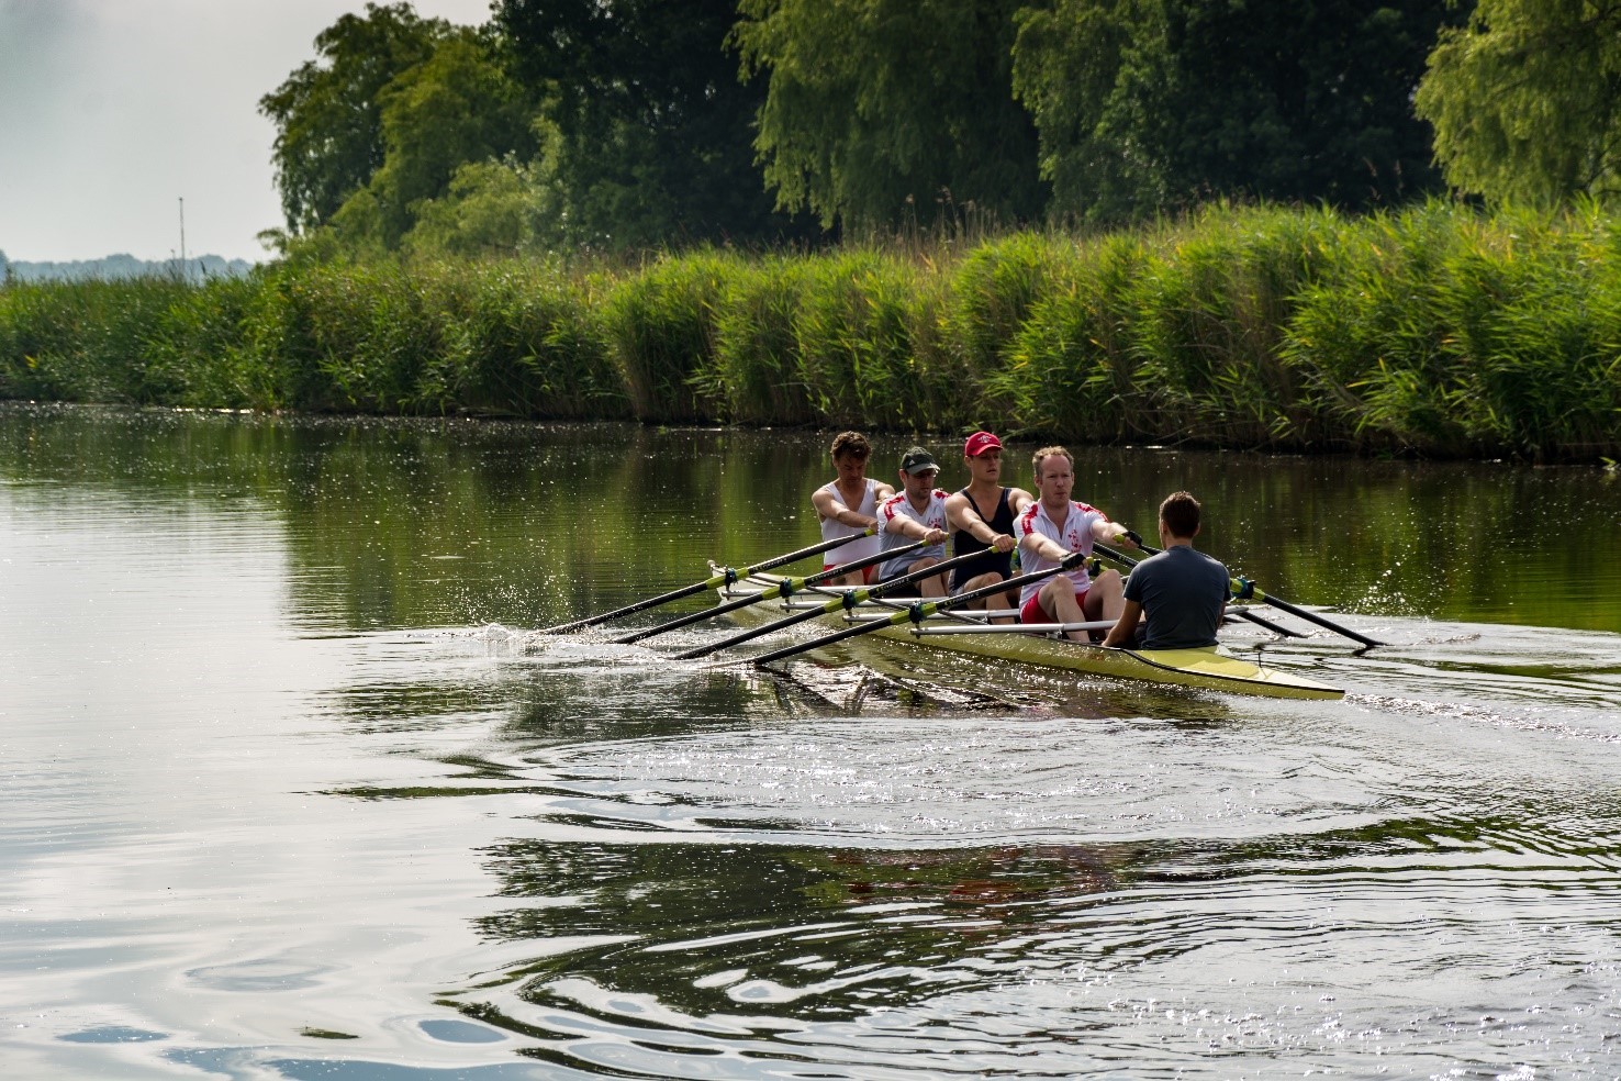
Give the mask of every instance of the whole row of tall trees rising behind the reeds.
<svg viewBox="0 0 1621 1081">
<path fill-rule="evenodd" d="M 494 0 L 344 15 L 266 94 L 306 259 L 822 246 L 1621 180 L 1621 5 Z"/>
</svg>

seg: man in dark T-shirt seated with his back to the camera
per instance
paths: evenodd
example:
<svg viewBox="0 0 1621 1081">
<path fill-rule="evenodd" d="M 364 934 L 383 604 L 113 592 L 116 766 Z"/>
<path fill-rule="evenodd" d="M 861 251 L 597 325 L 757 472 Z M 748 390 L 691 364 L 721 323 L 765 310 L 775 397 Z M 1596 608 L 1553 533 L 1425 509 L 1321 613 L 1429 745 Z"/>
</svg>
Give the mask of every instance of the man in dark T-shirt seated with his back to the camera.
<svg viewBox="0 0 1621 1081">
<path fill-rule="evenodd" d="M 1232 579 L 1216 559 L 1193 549 L 1200 501 L 1174 491 L 1159 504 L 1157 556 L 1131 569 L 1125 606 L 1104 645 L 1143 650 L 1193 650 L 1216 645 Z M 1146 613 L 1146 619 L 1144 619 Z"/>
</svg>

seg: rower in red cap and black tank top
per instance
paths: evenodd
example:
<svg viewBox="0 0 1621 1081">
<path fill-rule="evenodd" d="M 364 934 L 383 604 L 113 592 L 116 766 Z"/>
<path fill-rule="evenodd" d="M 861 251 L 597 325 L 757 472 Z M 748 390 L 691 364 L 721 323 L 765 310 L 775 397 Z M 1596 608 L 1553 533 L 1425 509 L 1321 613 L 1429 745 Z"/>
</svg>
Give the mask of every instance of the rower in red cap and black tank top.
<svg viewBox="0 0 1621 1081">
<path fill-rule="evenodd" d="M 1013 577 L 1013 519 L 1033 502 L 1023 488 L 1003 488 L 1002 441 L 989 431 L 976 431 L 963 442 L 963 465 L 968 485 L 945 501 L 947 523 L 952 527 L 952 554 L 984 556 L 952 569 L 952 593 L 964 593 L 995 585 Z M 987 509 L 989 507 L 989 514 Z M 968 608 L 1018 609 L 1018 592 L 992 593 L 971 601 Z M 1013 622 L 1012 617 L 995 622 Z"/>
</svg>

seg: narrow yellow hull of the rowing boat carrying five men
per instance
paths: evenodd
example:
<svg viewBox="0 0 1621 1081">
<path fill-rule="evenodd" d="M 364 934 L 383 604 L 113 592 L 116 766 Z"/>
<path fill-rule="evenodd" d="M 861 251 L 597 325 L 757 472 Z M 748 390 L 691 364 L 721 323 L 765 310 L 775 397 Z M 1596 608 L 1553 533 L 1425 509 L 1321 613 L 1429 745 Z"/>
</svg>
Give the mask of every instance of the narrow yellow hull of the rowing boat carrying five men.
<svg viewBox="0 0 1621 1081">
<path fill-rule="evenodd" d="M 723 601 L 747 596 L 763 588 L 778 585 L 781 579 L 754 575 L 720 592 Z M 822 592 L 820 605 L 828 593 Z M 781 616 L 794 608 L 793 601 L 772 600 L 741 608 L 736 616 L 751 621 L 762 616 Z M 853 614 L 825 616 L 827 621 L 845 622 L 862 619 L 862 609 Z M 893 614 L 895 606 L 880 608 L 882 617 Z M 1219 645 L 1198 650 L 1120 650 L 1075 642 L 1057 632 L 1013 630 L 1000 626 L 987 626 L 968 616 L 930 617 L 921 624 L 887 626 L 872 632 L 890 642 L 911 642 L 914 645 L 971 653 L 1000 661 L 1020 664 L 1037 664 L 1042 668 L 1060 668 L 1093 676 L 1112 676 L 1117 679 L 1135 679 L 1177 687 L 1198 687 L 1204 690 L 1225 690 L 1230 694 L 1264 695 L 1271 699 L 1341 699 L 1345 692 L 1339 687 L 1319 684 L 1305 676 L 1297 676 L 1266 664 L 1256 664 L 1227 653 Z"/>
</svg>

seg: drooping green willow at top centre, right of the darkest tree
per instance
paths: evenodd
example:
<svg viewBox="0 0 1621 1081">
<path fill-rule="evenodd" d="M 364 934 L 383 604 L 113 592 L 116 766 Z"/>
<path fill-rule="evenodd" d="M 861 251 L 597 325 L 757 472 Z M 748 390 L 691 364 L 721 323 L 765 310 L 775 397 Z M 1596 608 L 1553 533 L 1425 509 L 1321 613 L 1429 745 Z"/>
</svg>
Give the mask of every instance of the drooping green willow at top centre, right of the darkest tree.
<svg viewBox="0 0 1621 1081">
<path fill-rule="evenodd" d="M 1041 214 L 1036 131 L 1013 100 L 1021 0 L 741 0 L 733 42 L 768 78 L 754 141 L 776 204 L 892 227 L 939 204 Z"/>
</svg>

